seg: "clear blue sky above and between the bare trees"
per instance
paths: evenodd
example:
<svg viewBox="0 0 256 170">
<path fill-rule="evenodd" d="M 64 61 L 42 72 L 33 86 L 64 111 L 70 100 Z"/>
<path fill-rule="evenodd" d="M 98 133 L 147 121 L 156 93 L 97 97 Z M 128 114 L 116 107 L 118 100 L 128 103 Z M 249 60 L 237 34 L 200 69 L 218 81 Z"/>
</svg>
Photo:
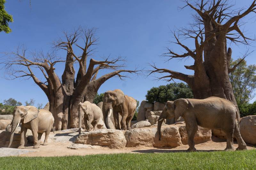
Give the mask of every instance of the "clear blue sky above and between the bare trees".
<svg viewBox="0 0 256 170">
<path fill-rule="evenodd" d="M 251 3 L 252 0 L 237 0 L 236 7 L 248 6 Z M 184 65 L 193 63 L 192 59 L 173 59 L 169 63 L 164 63 L 166 58 L 159 57 L 165 52 L 166 46 L 175 49 L 177 53 L 183 51 L 180 47 L 168 43 L 172 41 L 170 29 L 186 26 L 192 21 L 190 14 L 194 11 L 189 8 L 179 11 L 178 7 L 182 5 L 184 3 L 179 0 L 31 0 L 30 9 L 28 0 L 7 0 L 5 10 L 13 16 L 14 22 L 10 24 L 12 33 L 0 33 L 0 52 L 13 51 L 19 44 L 25 44 L 31 51 L 47 52 L 51 42 L 62 36 L 63 30 L 70 31 L 81 25 L 98 28 L 96 34 L 99 37 L 99 45 L 95 53 L 98 60 L 103 55 L 122 55 L 129 60 L 128 69 L 134 69 L 136 66 L 147 69 L 147 63 L 156 62 L 158 67 L 193 74 L 184 68 Z M 246 33 L 253 35 L 256 26 L 255 14 L 247 16 L 244 21 L 248 22 L 245 27 Z M 187 45 L 194 47 L 193 42 L 188 42 Z M 231 47 L 234 59 L 246 51 L 243 45 Z M 254 56 L 255 53 L 246 58 L 248 64 L 256 64 Z M 61 76 L 63 66 L 57 65 L 56 70 Z M 36 104 L 47 103 L 44 92 L 32 79 L 6 80 L 3 69 L 0 70 L 0 74 L 0 102 L 12 97 L 23 104 L 31 98 L 36 100 Z M 39 72 L 36 74 L 42 78 Z M 134 75 L 125 81 L 112 78 L 100 87 L 99 93 L 121 89 L 125 94 L 141 101 L 145 99 L 147 90 L 151 87 L 166 84 L 164 81 L 153 79 Z"/>
</svg>

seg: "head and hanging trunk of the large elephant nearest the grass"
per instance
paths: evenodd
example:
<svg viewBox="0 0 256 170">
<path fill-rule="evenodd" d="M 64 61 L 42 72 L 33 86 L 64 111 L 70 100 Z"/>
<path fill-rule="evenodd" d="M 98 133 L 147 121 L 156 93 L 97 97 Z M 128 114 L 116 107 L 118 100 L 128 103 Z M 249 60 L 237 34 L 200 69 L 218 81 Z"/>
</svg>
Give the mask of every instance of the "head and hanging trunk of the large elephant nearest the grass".
<svg viewBox="0 0 256 170">
<path fill-rule="evenodd" d="M 164 122 L 164 119 L 171 119 L 175 117 L 176 120 L 180 120 L 181 116 L 185 113 L 187 108 L 187 99 L 178 99 L 166 102 L 157 124 L 157 134 L 159 135 L 159 140 L 161 140 L 161 126 Z"/>
</svg>

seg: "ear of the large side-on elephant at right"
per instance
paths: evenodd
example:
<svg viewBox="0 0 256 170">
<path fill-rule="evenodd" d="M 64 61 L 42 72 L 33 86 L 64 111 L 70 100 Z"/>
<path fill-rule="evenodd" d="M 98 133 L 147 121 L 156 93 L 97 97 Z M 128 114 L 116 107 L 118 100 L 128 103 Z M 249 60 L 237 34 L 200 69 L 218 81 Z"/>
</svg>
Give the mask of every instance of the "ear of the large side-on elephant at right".
<svg viewBox="0 0 256 170">
<path fill-rule="evenodd" d="M 185 113 L 187 108 L 188 108 L 187 99 L 178 99 L 174 101 L 174 115 L 177 121 L 181 119 L 181 116 Z"/>
</svg>

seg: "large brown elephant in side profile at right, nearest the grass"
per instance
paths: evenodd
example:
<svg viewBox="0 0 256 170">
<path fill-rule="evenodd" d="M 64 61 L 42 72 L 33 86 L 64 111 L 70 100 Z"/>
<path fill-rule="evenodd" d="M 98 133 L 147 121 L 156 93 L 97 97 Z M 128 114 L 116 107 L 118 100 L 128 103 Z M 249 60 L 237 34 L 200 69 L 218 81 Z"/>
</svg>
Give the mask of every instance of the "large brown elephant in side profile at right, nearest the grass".
<svg viewBox="0 0 256 170">
<path fill-rule="evenodd" d="M 239 124 L 236 122 L 238 113 L 232 102 L 219 97 L 206 99 L 178 99 L 167 101 L 158 119 L 157 137 L 161 140 L 161 126 L 166 118 L 179 120 L 184 118 L 188 133 L 188 151 L 196 151 L 194 137 L 198 126 L 207 129 L 221 129 L 227 135 L 225 150 L 234 150 L 233 135 L 238 142 L 237 150 L 246 150 L 246 144 L 241 137 Z"/>
</svg>

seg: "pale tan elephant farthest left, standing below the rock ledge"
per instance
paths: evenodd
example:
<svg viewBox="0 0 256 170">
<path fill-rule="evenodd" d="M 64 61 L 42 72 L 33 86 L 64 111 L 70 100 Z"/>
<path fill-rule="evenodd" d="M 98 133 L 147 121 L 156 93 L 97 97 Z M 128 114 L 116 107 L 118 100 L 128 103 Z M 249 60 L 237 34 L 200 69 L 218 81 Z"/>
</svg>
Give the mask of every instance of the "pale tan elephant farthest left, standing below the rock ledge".
<svg viewBox="0 0 256 170">
<path fill-rule="evenodd" d="M 40 139 L 42 134 L 45 132 L 44 144 L 47 145 L 47 140 L 49 133 L 51 132 L 52 125 L 54 122 L 54 118 L 52 113 L 45 109 L 38 110 L 34 106 L 16 106 L 13 111 L 13 119 L 12 119 L 12 130 L 10 141 L 8 144 L 8 148 L 12 144 L 12 139 L 14 135 L 14 131 L 17 126 L 19 126 L 21 122 L 20 129 L 20 146 L 18 149 L 24 149 L 25 138 L 27 129 L 30 129 L 33 134 L 34 139 L 34 147 L 40 147 Z"/>
</svg>

